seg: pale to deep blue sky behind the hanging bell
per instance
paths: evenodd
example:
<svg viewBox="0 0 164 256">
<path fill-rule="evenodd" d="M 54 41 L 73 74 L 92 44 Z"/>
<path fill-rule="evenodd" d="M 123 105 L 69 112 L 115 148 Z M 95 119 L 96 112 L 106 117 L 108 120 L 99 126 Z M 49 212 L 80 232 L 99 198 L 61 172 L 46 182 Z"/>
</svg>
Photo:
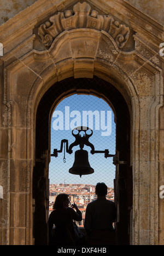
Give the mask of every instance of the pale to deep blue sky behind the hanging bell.
<svg viewBox="0 0 164 256">
<path fill-rule="evenodd" d="M 85 116 L 85 111 L 96 114 L 95 118 L 93 118 L 93 134 L 89 139 L 95 146 L 95 150 L 108 149 L 110 154 L 115 154 L 114 114 L 109 105 L 106 101 L 96 96 L 77 94 L 62 100 L 55 109 L 51 121 L 51 153 L 54 149 L 60 149 L 62 139 L 68 140 L 68 146 L 74 142 L 75 138 L 72 135 L 71 128 L 75 127 L 76 124 L 78 125 L 80 121 L 84 124 L 83 117 Z M 92 121 L 92 118 L 90 118 L 90 121 Z M 88 123 L 87 126 L 89 126 Z M 98 182 L 104 182 L 107 186 L 113 187 L 113 179 L 115 178 L 113 158 L 105 158 L 103 153 L 92 155 L 90 153 L 91 148 L 88 146 L 84 146 L 84 150 L 89 152 L 89 163 L 94 169 L 94 173 L 82 175 L 81 178 L 79 175 L 70 174 L 68 170 L 73 166 L 74 152 L 76 150 L 79 150 L 79 146 L 73 147 L 73 153 L 71 155 L 68 153 L 65 154 L 66 163 L 63 162 L 64 151 L 58 153 L 58 157 L 51 157 L 49 165 L 50 184 L 66 182 L 66 184 L 81 183 L 96 185 Z"/>
</svg>

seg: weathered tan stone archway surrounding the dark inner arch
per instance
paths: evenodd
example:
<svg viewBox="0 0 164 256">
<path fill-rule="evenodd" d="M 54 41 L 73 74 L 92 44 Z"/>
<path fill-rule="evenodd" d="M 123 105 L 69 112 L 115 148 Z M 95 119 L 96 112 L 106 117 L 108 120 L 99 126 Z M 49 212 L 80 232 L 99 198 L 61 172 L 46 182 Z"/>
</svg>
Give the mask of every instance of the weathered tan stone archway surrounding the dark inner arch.
<svg viewBox="0 0 164 256">
<path fill-rule="evenodd" d="M 94 9 L 88 5 L 83 3 L 67 8 L 72 12 L 67 12 L 66 16 L 64 11 L 57 16 L 48 15 L 48 18 L 45 14 L 39 22 L 30 25 L 32 31 L 28 38 L 25 39 L 25 35 L 21 37 L 19 30 L 19 43 L 15 43 L 17 47 L 3 56 L 3 141 L 7 148 L 4 151 L 6 158 L 3 157 L 7 173 L 4 240 L 7 244 L 33 243 L 32 174 L 36 161 L 36 115 L 40 100 L 58 81 L 93 76 L 113 84 L 130 110 L 133 172 L 131 243 L 158 243 L 157 134 L 163 85 L 162 61 L 157 55 L 156 44 L 152 46 L 155 39 L 150 40 L 149 35 L 152 33 L 155 38 L 155 26 L 147 32 L 141 27 L 138 29 L 136 20 L 130 24 L 125 19 L 126 25 L 124 22 L 121 24 L 110 15 L 106 19 L 106 15 L 99 14 L 98 9 L 92 12 Z M 78 22 L 76 12 L 84 22 Z M 54 20 L 59 18 L 64 23 L 57 30 Z M 109 31 L 102 25 L 107 24 L 104 19 L 110 24 Z M 73 27 L 69 30 L 70 24 Z M 54 31 L 57 31 L 56 34 Z"/>
</svg>

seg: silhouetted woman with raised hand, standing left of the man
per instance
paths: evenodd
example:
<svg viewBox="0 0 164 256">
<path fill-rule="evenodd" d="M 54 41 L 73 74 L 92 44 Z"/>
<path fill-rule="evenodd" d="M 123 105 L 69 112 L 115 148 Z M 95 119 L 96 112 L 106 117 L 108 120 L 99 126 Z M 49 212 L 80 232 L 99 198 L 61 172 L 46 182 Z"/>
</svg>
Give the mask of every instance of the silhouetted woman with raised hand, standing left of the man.
<svg viewBox="0 0 164 256">
<path fill-rule="evenodd" d="M 67 194 L 59 194 L 56 197 L 53 209 L 49 216 L 49 244 L 53 245 L 73 245 L 74 230 L 72 220 L 81 221 L 82 214 L 77 205 L 69 206 L 69 198 Z M 76 212 L 74 211 L 74 209 Z M 55 225 L 55 229 L 52 227 Z"/>
</svg>

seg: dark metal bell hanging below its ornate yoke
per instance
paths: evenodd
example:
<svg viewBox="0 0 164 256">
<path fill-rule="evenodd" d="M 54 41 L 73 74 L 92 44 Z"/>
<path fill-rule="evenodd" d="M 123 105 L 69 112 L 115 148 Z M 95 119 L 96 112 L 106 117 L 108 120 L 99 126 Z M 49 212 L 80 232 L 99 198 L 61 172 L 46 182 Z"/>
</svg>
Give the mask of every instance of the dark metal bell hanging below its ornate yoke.
<svg viewBox="0 0 164 256">
<path fill-rule="evenodd" d="M 94 170 L 89 164 L 88 152 L 83 149 L 75 151 L 74 164 L 69 169 L 69 173 L 80 175 L 81 177 L 81 175 L 91 174 L 93 172 Z"/>
</svg>

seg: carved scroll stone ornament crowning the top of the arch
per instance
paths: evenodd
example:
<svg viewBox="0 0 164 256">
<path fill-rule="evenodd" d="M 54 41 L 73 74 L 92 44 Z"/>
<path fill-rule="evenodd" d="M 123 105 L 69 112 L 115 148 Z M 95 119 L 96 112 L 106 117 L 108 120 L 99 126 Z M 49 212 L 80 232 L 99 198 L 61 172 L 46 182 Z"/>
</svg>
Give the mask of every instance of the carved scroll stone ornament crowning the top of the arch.
<svg viewBox="0 0 164 256">
<path fill-rule="evenodd" d="M 110 15 L 99 15 L 96 10 L 86 2 L 77 3 L 73 10 L 58 12 L 51 16 L 49 21 L 40 25 L 38 35 L 42 43 L 50 47 L 55 37 L 65 30 L 88 28 L 104 30 L 113 37 L 119 48 L 124 47 L 130 34 L 130 30 Z"/>
</svg>

